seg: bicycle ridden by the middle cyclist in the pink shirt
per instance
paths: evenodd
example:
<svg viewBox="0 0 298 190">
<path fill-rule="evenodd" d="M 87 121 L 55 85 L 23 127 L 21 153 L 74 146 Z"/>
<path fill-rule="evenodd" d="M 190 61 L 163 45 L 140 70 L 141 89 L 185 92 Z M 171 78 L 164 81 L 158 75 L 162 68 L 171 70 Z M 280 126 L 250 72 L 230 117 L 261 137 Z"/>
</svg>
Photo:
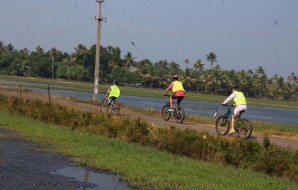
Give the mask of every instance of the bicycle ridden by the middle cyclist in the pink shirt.
<svg viewBox="0 0 298 190">
<path fill-rule="evenodd" d="M 170 96 L 166 94 L 165 96 Z M 184 118 L 185 118 L 185 112 L 182 106 L 178 106 L 175 102 L 173 102 L 174 109 L 173 112 L 168 111 L 171 108 L 170 102 L 167 102 L 163 107 L 162 107 L 162 118 L 165 121 L 168 121 L 171 116 L 173 115 L 176 118 L 177 123 L 182 123 Z"/>
</svg>

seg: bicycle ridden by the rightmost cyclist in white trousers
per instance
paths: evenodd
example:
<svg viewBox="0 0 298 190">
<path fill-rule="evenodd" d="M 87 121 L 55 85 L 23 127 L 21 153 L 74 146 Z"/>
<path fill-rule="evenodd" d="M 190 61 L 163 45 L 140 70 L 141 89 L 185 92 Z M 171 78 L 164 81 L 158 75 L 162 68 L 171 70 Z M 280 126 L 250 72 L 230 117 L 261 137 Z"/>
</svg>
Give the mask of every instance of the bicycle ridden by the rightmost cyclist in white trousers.
<svg viewBox="0 0 298 190">
<path fill-rule="evenodd" d="M 224 115 L 219 116 L 215 123 L 215 130 L 217 134 L 222 136 L 226 135 L 230 130 L 231 118 L 233 116 L 233 111 L 231 109 L 235 107 L 232 104 L 225 104 L 223 106 L 227 106 L 228 110 Z M 243 112 L 244 111 L 241 111 L 238 117 L 235 119 L 234 128 L 239 138 L 248 139 L 251 136 L 253 126 L 250 121 L 248 121 L 247 119 L 241 118 L 241 114 Z M 218 113 L 218 110 L 216 109 L 214 117 L 216 117 L 217 113 Z"/>
</svg>

